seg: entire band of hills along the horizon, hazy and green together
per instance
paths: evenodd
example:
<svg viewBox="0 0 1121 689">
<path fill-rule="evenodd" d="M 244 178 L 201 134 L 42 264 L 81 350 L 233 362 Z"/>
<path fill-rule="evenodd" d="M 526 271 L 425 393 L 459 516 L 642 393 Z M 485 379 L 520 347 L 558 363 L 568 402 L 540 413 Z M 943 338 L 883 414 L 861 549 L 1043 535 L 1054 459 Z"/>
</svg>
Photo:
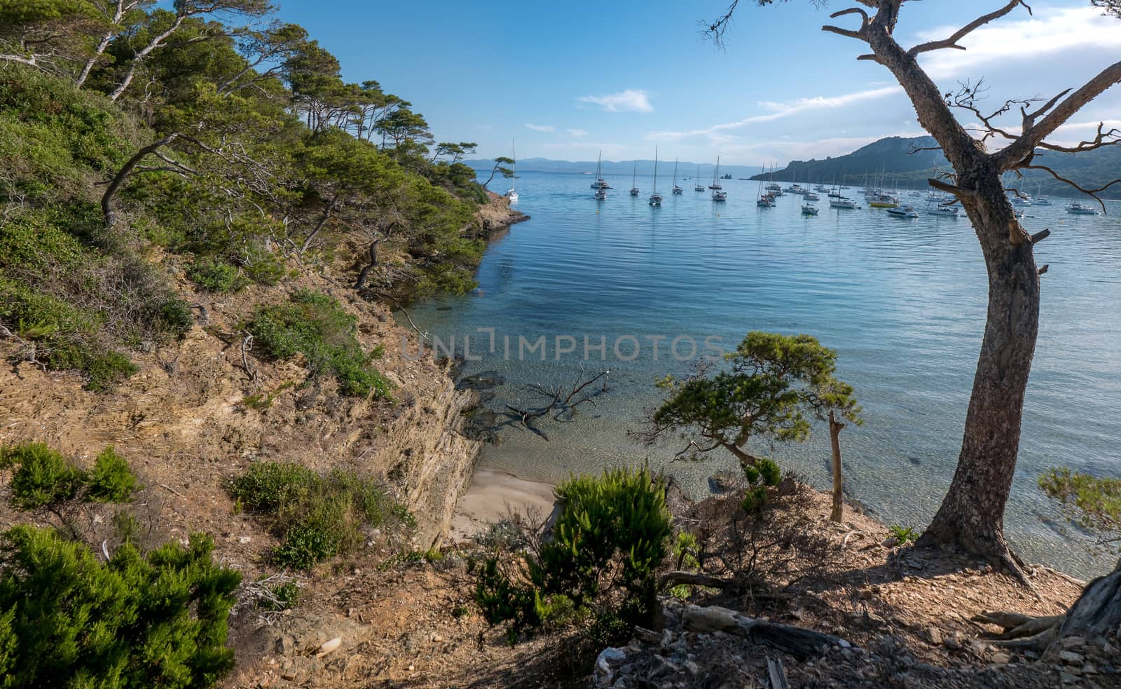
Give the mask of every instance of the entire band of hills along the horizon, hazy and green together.
<svg viewBox="0 0 1121 689">
<path fill-rule="evenodd" d="M 791 160 L 782 169 L 776 169 L 773 180 L 777 182 L 813 182 L 815 184 L 863 184 L 865 177 L 871 184 L 872 178 L 880 174 L 886 177 L 886 184 L 926 189 L 927 178 L 937 165 L 944 169 L 949 163 L 941 150 L 924 150 L 936 148 L 934 137 L 887 137 L 868 146 L 835 158 L 824 160 Z M 1121 178 L 1121 146 L 1106 146 L 1083 154 L 1064 154 L 1040 150 L 1036 158 L 1044 165 L 1049 165 L 1068 180 L 1093 189 L 1117 178 Z M 490 172 L 493 160 L 465 160 L 467 165 L 479 171 Z M 604 160 L 604 176 L 630 175 L 634 160 Z M 659 160 L 659 173 L 673 174 L 673 160 Z M 700 167 L 700 173 L 697 168 Z M 678 163 L 678 178 L 712 177 L 712 163 Z M 548 158 L 524 158 L 518 160 L 518 169 L 524 172 L 550 173 L 594 173 L 595 160 L 550 160 Z M 654 160 L 638 160 L 639 174 L 650 174 Z M 769 180 L 771 173 L 759 174 L 758 165 L 721 165 L 720 174 L 725 173 L 735 178 Z M 1023 180 L 1013 181 L 1013 175 L 1007 176 L 1006 185 L 1022 189 L 1029 194 L 1044 193 L 1058 196 L 1078 196 L 1071 186 L 1055 180 L 1050 174 L 1039 171 L 1023 171 Z M 1102 194 L 1105 199 L 1121 199 L 1121 184 L 1115 184 Z"/>
</svg>

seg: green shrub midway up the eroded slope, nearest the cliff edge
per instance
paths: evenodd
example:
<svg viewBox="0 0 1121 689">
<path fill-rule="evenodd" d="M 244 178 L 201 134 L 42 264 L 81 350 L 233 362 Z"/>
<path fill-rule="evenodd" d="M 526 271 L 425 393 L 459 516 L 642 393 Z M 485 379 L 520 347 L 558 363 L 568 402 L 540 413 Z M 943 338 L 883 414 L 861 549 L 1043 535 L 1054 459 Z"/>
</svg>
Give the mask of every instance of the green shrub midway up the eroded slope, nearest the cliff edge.
<svg viewBox="0 0 1121 689">
<path fill-rule="evenodd" d="M 286 359 L 302 353 L 313 376 L 333 375 L 343 395 L 388 397 L 390 384 L 371 366 L 354 337 L 355 319 L 334 298 L 300 290 L 288 303 L 261 306 L 245 323 L 268 356 Z"/>
</svg>

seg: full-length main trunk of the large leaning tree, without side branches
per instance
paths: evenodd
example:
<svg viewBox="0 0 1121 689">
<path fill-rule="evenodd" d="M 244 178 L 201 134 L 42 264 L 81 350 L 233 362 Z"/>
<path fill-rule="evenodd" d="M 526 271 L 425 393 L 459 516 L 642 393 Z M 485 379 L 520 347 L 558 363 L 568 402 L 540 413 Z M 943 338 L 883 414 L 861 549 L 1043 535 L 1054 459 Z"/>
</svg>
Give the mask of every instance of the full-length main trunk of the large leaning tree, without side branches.
<svg viewBox="0 0 1121 689">
<path fill-rule="evenodd" d="M 919 125 L 956 173 L 957 197 L 989 274 L 989 307 L 957 469 L 919 545 L 951 545 L 1022 572 L 1004 541 L 1003 515 L 1020 444 L 1020 415 L 1039 330 L 1039 273 L 1031 238 L 1016 220 L 997 156 L 954 118 L 937 85 L 891 36 L 893 13 L 877 15 L 864 38 L 902 85 Z M 887 21 L 883 21 L 887 19 Z M 1026 579 L 1025 579 L 1026 580 Z"/>
</svg>

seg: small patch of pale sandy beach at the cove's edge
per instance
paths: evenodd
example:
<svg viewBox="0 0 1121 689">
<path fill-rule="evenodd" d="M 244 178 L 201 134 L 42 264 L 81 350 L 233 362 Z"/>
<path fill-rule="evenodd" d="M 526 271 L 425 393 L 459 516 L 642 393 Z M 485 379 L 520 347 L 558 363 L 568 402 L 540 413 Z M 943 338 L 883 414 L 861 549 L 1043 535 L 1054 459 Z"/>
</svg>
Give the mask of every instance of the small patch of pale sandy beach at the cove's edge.
<svg viewBox="0 0 1121 689">
<path fill-rule="evenodd" d="M 510 512 L 553 512 L 553 485 L 527 481 L 512 474 L 481 467 L 475 469 L 467 492 L 460 498 L 452 515 L 448 539 L 455 543 L 471 538 L 488 524 L 497 523 Z"/>
</svg>

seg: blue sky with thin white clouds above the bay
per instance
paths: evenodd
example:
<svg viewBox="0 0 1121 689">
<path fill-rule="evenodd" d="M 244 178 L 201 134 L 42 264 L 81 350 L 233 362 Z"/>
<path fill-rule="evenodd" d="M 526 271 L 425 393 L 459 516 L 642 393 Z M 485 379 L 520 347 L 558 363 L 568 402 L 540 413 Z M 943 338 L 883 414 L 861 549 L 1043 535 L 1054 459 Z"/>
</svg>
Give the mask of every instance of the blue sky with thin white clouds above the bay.
<svg viewBox="0 0 1121 689">
<path fill-rule="evenodd" d="M 948 36 L 1001 0 L 929 0 L 904 7 L 907 45 Z M 660 157 L 762 165 L 847 153 L 883 136 L 923 134 L 882 66 L 855 59 L 862 43 L 819 30 L 828 10 L 809 0 L 741 2 L 720 50 L 698 20 L 726 0 L 597 2 L 368 2 L 281 0 L 339 56 L 349 81 L 376 79 L 413 102 L 439 140 L 479 143 L 478 157 Z M 984 76 L 989 102 L 1050 98 L 1121 56 L 1121 21 L 1086 0 L 1031 3 L 924 65 L 944 91 Z M 833 0 L 831 10 L 850 3 Z M 852 24 L 842 17 L 837 24 Z M 867 46 L 864 46 L 867 47 Z M 961 116 L 969 122 L 966 114 Z M 1057 140 L 1101 119 L 1121 127 L 1115 86 Z"/>
</svg>

